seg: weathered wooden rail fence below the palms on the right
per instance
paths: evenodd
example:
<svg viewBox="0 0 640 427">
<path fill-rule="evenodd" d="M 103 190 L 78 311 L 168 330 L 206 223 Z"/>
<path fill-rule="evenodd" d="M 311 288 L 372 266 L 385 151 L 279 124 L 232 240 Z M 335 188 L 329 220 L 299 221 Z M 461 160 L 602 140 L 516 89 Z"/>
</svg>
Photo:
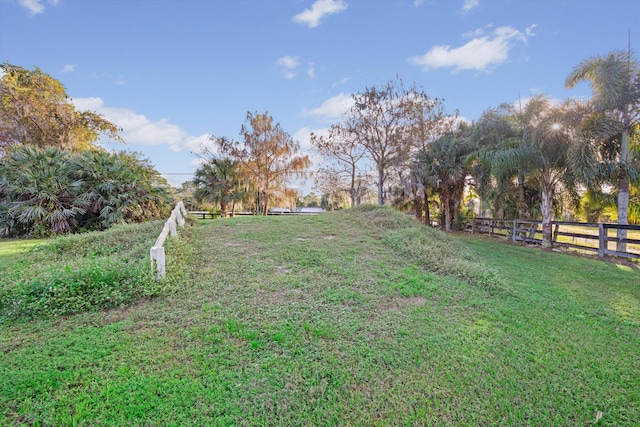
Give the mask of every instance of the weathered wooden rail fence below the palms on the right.
<svg viewBox="0 0 640 427">
<path fill-rule="evenodd" d="M 553 245 L 583 251 L 597 252 L 600 258 L 606 255 L 625 258 L 640 258 L 640 225 L 619 225 L 611 223 L 588 223 L 552 221 Z M 514 242 L 542 243 L 542 221 L 521 219 L 474 218 L 468 224 L 471 233 L 486 233 L 502 236 Z M 633 237 L 619 239 L 617 230 L 628 230 Z M 615 250 L 618 242 L 626 242 L 626 252 Z"/>
</svg>

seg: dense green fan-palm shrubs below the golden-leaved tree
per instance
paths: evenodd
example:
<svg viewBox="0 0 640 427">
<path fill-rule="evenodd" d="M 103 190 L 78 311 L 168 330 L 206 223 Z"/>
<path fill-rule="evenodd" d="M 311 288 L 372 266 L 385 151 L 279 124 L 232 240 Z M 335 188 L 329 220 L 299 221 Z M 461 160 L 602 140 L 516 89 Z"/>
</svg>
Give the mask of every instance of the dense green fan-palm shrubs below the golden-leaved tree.
<svg viewBox="0 0 640 427">
<path fill-rule="evenodd" d="M 163 218 L 169 186 L 132 153 L 19 145 L 0 160 L 0 236 L 104 230 Z"/>
</svg>

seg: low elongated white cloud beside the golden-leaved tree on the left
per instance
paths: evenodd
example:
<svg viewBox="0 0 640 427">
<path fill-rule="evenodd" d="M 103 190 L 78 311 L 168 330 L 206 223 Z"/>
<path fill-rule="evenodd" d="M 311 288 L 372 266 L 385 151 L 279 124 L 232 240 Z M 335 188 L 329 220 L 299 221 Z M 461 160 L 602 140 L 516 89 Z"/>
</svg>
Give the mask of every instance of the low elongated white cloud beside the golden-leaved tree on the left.
<svg viewBox="0 0 640 427">
<path fill-rule="evenodd" d="M 126 108 L 104 105 L 102 98 L 74 98 L 80 110 L 93 111 L 122 128 L 121 136 L 127 144 L 167 145 L 172 151 L 200 151 L 208 135 L 190 136 L 167 119 L 149 120 L 146 116 Z"/>
</svg>

